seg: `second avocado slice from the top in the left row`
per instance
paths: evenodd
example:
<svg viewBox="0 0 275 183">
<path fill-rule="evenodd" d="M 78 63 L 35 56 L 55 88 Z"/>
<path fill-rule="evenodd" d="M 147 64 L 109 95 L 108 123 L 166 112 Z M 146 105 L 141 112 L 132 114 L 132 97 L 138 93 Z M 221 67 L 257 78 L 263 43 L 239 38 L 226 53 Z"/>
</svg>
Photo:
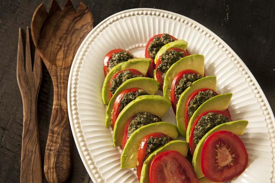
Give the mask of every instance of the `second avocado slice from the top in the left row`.
<svg viewBox="0 0 275 183">
<path fill-rule="evenodd" d="M 106 127 L 112 125 L 112 110 L 114 103 L 116 101 L 116 97 L 122 92 L 123 90 L 130 89 L 130 88 L 141 88 L 145 90 L 149 95 L 155 95 L 156 91 L 158 91 L 160 87 L 160 83 L 152 78 L 148 77 L 135 77 L 128 79 L 123 84 L 117 88 L 116 92 L 114 93 L 112 99 L 110 100 L 107 110 L 106 110 L 106 119 L 105 125 Z"/>
</svg>

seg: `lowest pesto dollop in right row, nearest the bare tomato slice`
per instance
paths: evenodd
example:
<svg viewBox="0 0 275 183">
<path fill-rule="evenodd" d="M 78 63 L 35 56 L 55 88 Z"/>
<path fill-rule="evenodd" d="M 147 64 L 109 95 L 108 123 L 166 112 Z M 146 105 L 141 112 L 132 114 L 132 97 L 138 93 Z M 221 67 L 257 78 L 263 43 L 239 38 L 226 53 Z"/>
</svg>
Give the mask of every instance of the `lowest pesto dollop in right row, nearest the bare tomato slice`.
<svg viewBox="0 0 275 183">
<path fill-rule="evenodd" d="M 200 139 L 212 128 L 223 123 L 231 121 L 228 117 L 222 114 L 208 113 L 202 116 L 195 126 L 194 130 L 194 142 L 196 145 L 200 142 Z"/>
</svg>

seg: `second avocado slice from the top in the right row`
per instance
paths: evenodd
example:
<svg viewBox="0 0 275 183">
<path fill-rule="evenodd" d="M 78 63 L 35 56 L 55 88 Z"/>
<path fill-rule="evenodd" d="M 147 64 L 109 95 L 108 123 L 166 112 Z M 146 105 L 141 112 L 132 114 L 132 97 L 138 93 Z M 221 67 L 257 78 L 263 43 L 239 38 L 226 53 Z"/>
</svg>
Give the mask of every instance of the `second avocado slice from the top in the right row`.
<svg viewBox="0 0 275 183">
<path fill-rule="evenodd" d="M 174 77 L 184 70 L 194 70 L 203 77 L 204 56 L 199 54 L 185 56 L 182 59 L 179 59 L 167 70 L 163 83 L 163 96 L 166 99 L 170 100 L 171 85 Z"/>
</svg>

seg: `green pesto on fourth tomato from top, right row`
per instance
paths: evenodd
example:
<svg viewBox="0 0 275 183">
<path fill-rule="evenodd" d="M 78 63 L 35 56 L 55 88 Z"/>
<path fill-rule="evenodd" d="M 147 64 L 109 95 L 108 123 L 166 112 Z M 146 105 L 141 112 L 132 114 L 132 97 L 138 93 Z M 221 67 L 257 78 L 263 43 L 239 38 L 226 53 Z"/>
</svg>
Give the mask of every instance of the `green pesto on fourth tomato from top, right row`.
<svg viewBox="0 0 275 183">
<path fill-rule="evenodd" d="M 199 91 L 199 93 L 190 101 L 187 108 L 189 117 L 192 117 L 194 112 L 208 99 L 215 97 L 217 94 L 213 90 Z"/>
</svg>

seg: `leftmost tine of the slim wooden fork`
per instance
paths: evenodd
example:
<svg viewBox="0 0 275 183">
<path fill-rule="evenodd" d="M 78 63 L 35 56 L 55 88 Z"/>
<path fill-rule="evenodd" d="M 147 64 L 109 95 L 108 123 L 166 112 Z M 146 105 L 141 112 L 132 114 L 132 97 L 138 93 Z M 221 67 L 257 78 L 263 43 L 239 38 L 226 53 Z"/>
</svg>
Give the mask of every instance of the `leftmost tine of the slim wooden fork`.
<svg viewBox="0 0 275 183">
<path fill-rule="evenodd" d="M 24 66 L 24 52 L 23 52 L 23 41 L 22 41 L 22 30 L 19 28 L 19 36 L 18 36 L 18 48 L 17 48 L 17 77 L 19 73 L 25 72 Z"/>
</svg>

